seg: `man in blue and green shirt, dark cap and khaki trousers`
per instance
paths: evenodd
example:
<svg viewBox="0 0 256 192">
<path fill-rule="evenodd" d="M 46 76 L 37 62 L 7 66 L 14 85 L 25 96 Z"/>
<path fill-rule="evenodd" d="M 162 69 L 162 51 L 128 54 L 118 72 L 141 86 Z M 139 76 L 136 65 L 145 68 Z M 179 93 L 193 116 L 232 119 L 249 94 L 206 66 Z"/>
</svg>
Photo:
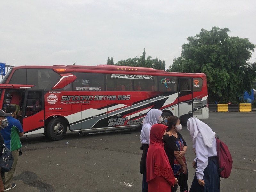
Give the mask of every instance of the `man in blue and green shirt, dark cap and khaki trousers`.
<svg viewBox="0 0 256 192">
<path fill-rule="evenodd" d="M 12 183 L 12 179 L 18 162 L 19 149 L 22 147 L 20 137 L 23 136 L 23 129 L 20 121 L 14 118 L 16 115 L 16 107 L 14 105 L 8 105 L 5 112 L 11 113 L 12 115 L 6 117 L 8 125 L 5 129 L 0 130 L 0 133 L 4 138 L 6 147 L 10 149 L 14 158 L 11 171 L 6 172 L 4 177 L 4 189 L 8 191 L 16 186 L 15 183 Z"/>
</svg>

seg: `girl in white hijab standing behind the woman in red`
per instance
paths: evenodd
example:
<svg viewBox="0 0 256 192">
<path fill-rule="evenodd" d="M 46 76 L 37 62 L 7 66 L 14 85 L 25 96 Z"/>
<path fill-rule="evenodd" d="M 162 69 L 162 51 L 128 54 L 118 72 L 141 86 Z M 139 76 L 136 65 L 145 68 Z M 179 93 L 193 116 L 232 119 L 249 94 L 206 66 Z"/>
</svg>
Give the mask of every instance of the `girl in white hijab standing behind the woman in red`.
<svg viewBox="0 0 256 192">
<path fill-rule="evenodd" d="M 140 139 L 142 143 L 140 149 L 143 150 L 142 157 L 140 160 L 140 173 L 143 174 L 142 192 L 148 192 L 148 183 L 146 178 L 146 160 L 149 148 L 149 133 L 152 125 L 163 122 L 163 118 L 161 117 L 161 115 L 162 111 L 158 109 L 151 109 L 150 111 L 148 111 L 143 121 L 143 126 L 140 134 Z"/>
</svg>

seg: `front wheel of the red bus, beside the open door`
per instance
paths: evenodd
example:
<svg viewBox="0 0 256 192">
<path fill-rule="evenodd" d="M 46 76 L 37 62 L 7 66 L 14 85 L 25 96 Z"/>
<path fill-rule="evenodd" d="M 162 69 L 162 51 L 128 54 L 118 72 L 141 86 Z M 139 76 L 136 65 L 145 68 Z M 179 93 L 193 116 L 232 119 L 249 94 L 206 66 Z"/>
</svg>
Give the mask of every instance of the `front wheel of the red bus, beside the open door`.
<svg viewBox="0 0 256 192">
<path fill-rule="evenodd" d="M 62 118 L 53 118 L 47 126 L 47 137 L 51 140 L 62 140 L 67 132 L 67 123 Z"/>
</svg>

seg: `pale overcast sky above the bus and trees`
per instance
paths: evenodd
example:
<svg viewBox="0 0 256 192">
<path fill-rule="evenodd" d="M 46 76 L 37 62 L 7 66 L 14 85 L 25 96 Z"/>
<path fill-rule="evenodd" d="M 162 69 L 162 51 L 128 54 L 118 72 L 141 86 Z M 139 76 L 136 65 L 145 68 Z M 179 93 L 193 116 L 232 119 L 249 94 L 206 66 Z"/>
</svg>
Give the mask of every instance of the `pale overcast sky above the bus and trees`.
<svg viewBox="0 0 256 192">
<path fill-rule="evenodd" d="M 202 28 L 226 27 L 256 44 L 255 12 L 253 0 L 1 0 L 0 62 L 99 65 L 145 48 L 167 69 Z"/>
</svg>

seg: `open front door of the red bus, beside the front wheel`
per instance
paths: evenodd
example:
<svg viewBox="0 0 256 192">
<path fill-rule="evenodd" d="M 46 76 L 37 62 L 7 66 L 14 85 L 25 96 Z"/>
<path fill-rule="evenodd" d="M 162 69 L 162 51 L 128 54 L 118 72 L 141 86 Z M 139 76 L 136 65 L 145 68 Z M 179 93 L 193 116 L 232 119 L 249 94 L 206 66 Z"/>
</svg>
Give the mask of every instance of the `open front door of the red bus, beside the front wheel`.
<svg viewBox="0 0 256 192">
<path fill-rule="evenodd" d="M 24 135 L 44 133 L 44 90 L 26 90 L 22 127 Z"/>
</svg>

